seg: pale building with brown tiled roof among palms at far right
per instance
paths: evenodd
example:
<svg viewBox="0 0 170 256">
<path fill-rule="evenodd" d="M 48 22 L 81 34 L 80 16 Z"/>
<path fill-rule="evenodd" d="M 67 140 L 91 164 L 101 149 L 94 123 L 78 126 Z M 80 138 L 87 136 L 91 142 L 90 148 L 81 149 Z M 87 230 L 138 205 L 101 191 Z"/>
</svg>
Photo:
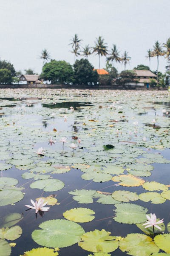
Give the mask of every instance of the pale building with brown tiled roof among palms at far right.
<svg viewBox="0 0 170 256">
<path fill-rule="evenodd" d="M 156 75 L 153 74 L 150 70 L 133 70 L 136 73 L 136 81 L 131 82 L 130 85 L 138 85 L 138 86 L 146 86 L 147 88 L 150 87 L 150 79 L 155 80 L 156 82 Z"/>
</svg>

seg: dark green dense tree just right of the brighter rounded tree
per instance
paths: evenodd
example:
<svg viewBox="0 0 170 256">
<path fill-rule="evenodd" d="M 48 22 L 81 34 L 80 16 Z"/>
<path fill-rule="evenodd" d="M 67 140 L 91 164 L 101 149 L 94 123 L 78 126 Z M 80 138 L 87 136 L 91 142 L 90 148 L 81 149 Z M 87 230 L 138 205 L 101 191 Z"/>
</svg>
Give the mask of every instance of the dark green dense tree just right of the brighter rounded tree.
<svg viewBox="0 0 170 256">
<path fill-rule="evenodd" d="M 98 74 L 87 59 L 81 59 L 74 63 L 74 80 L 75 84 L 96 84 Z"/>
</svg>

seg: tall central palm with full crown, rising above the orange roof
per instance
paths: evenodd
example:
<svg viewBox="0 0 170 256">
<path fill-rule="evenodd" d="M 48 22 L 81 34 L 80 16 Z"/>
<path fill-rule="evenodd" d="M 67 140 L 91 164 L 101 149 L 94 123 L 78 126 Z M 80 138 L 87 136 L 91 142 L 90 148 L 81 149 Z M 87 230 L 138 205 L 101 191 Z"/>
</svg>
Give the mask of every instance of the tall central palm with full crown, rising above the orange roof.
<svg viewBox="0 0 170 256">
<path fill-rule="evenodd" d="M 99 73 L 100 73 L 100 56 L 106 56 L 108 54 L 107 44 L 104 43 L 104 39 L 99 36 L 96 38 L 95 46 L 93 47 L 93 52 L 96 52 L 99 55 Z"/>
</svg>

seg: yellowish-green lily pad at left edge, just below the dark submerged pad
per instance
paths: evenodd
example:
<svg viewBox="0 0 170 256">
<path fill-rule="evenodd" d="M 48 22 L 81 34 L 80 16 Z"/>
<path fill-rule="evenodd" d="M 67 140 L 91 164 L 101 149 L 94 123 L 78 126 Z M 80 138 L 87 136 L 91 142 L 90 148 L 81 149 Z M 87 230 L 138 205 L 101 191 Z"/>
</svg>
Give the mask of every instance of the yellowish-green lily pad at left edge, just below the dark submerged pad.
<svg viewBox="0 0 170 256">
<path fill-rule="evenodd" d="M 14 226 L 14 227 L 6 227 L 0 229 L 0 238 L 1 239 L 7 239 L 7 240 L 15 240 L 19 238 L 22 234 L 22 228 L 20 226 Z"/>
</svg>

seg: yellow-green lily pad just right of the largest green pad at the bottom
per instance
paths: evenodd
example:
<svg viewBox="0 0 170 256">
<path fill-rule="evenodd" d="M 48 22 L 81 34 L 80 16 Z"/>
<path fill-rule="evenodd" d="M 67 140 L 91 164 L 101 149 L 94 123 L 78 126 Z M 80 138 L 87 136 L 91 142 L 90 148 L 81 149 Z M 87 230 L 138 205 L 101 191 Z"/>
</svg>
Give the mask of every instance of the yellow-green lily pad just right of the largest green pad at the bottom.
<svg viewBox="0 0 170 256">
<path fill-rule="evenodd" d="M 105 230 L 87 232 L 81 237 L 79 246 L 82 247 L 82 249 L 93 253 L 113 252 L 118 248 L 119 242 L 115 241 L 116 236 L 110 236 L 110 234 L 111 232 L 107 232 Z"/>
</svg>

